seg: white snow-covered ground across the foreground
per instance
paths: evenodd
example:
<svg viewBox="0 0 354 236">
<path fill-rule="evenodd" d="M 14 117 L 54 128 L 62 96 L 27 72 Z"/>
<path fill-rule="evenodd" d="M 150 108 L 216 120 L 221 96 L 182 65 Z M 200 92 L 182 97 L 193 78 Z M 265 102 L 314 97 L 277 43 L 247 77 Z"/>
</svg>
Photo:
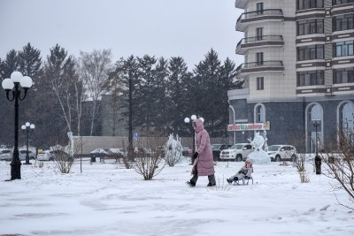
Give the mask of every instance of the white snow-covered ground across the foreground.
<svg viewBox="0 0 354 236">
<path fill-rule="evenodd" d="M 82 173 L 79 162 L 70 174 L 47 162 L 22 165 L 22 179 L 4 181 L 9 164 L 0 162 L 0 235 L 354 235 L 354 212 L 337 204 L 330 180 L 309 163 L 310 183 L 301 184 L 291 165 L 271 163 L 255 165 L 248 186 L 226 184 L 243 163 L 219 163 L 214 188 L 206 177 L 185 185 L 187 160 L 151 181 L 88 160 Z"/>
</svg>

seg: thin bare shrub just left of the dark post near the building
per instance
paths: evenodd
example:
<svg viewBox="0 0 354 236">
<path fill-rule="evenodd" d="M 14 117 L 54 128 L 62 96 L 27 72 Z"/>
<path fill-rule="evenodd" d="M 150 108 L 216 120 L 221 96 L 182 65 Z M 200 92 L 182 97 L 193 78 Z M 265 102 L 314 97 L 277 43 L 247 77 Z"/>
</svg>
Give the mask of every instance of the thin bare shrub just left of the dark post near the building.
<svg viewBox="0 0 354 236">
<path fill-rule="evenodd" d="M 296 156 L 293 157 L 293 166 L 296 168 L 301 183 L 309 183 L 309 174 L 305 168 L 306 153 L 304 133 L 294 133 L 291 137 L 291 145 L 296 148 Z"/>
</svg>

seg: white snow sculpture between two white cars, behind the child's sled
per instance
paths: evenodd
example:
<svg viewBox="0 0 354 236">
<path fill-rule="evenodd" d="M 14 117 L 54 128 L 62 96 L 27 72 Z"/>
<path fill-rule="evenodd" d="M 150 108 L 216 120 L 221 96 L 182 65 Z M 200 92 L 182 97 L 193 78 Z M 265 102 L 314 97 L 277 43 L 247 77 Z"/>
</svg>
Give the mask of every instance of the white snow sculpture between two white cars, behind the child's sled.
<svg viewBox="0 0 354 236">
<path fill-rule="evenodd" d="M 250 160 L 252 164 L 270 164 L 271 158 L 262 148 L 265 145 L 265 142 L 265 138 L 256 132 L 253 141 L 250 141 L 250 144 L 255 150 L 247 156 L 247 159 Z"/>
</svg>

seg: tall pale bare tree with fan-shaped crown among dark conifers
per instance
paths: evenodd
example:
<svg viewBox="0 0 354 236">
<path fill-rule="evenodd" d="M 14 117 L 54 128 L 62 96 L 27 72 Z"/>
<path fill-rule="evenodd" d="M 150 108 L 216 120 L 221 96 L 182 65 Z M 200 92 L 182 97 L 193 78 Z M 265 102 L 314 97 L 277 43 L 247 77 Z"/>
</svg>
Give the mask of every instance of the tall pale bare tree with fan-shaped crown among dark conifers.
<svg viewBox="0 0 354 236">
<path fill-rule="evenodd" d="M 112 70 L 111 62 L 111 49 L 94 50 L 90 53 L 80 52 L 81 77 L 85 83 L 88 99 L 92 102 L 90 136 L 94 130 L 99 100 L 104 93 L 104 83 Z"/>
</svg>

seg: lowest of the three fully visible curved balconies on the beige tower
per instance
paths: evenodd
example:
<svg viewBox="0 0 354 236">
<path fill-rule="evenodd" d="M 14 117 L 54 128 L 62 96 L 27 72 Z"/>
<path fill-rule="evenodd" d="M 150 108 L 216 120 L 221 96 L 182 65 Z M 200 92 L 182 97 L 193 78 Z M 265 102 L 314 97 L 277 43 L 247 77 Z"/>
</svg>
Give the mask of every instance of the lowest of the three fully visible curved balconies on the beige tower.
<svg viewBox="0 0 354 236">
<path fill-rule="evenodd" d="M 236 73 L 239 76 L 244 76 L 250 73 L 256 72 L 283 72 L 284 65 L 282 61 L 263 61 L 263 62 L 251 62 L 243 63 L 236 69 Z"/>
</svg>

